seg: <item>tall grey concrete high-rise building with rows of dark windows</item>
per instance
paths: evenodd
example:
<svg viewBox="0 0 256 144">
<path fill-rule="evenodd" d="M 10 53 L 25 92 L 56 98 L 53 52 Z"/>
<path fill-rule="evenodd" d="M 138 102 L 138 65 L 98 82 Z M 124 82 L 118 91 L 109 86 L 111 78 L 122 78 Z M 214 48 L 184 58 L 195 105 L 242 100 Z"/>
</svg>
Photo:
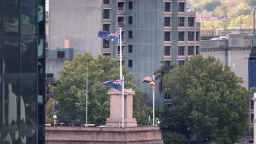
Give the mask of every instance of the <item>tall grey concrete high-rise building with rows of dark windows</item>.
<svg viewBox="0 0 256 144">
<path fill-rule="evenodd" d="M 94 56 L 122 56 L 123 65 L 135 74 L 136 86 L 152 94 L 141 80 L 153 77 L 160 61 L 183 65 L 185 58 L 200 53 L 200 23 L 185 0 L 54 0 L 49 7 L 49 83 L 64 61 L 77 52 L 90 51 Z M 98 31 L 119 28 L 122 47 L 97 37 Z M 156 91 L 156 104 L 163 99 L 168 97 Z"/>
</svg>

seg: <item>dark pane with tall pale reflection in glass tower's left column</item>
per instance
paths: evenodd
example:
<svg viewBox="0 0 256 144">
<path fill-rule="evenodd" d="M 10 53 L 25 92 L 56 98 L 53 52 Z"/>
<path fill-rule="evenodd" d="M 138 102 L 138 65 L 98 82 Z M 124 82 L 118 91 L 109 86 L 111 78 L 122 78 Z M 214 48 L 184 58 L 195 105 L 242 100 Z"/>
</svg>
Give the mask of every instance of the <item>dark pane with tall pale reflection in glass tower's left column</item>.
<svg viewBox="0 0 256 144">
<path fill-rule="evenodd" d="M 4 123 L 3 125 L 12 125 L 13 128 L 18 128 L 18 113 L 19 113 L 19 76 L 5 75 L 4 76 Z M 20 110 L 24 112 L 25 110 Z"/>
</svg>

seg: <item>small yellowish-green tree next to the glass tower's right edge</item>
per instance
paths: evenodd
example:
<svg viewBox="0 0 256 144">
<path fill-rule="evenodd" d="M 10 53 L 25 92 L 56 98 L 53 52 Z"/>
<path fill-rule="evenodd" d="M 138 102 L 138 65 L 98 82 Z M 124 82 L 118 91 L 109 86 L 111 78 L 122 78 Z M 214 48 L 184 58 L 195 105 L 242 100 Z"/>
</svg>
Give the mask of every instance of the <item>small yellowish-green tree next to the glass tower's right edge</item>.
<svg viewBox="0 0 256 144">
<path fill-rule="evenodd" d="M 45 123 L 47 124 L 53 124 L 54 119 L 54 106 L 53 106 L 54 99 L 49 99 L 47 103 L 45 104 Z"/>
</svg>

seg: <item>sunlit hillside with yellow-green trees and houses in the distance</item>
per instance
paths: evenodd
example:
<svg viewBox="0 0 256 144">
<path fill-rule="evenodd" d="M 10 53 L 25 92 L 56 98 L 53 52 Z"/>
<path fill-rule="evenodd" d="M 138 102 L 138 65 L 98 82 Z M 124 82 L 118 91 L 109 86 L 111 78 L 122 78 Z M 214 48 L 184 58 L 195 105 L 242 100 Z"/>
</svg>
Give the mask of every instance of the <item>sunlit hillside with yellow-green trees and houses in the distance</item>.
<svg viewBox="0 0 256 144">
<path fill-rule="evenodd" d="M 201 30 L 226 29 L 230 27 L 253 28 L 254 0 L 188 0 L 196 11 Z M 205 17 L 211 19 L 205 19 Z M 242 19 L 242 21 L 241 21 Z"/>
</svg>

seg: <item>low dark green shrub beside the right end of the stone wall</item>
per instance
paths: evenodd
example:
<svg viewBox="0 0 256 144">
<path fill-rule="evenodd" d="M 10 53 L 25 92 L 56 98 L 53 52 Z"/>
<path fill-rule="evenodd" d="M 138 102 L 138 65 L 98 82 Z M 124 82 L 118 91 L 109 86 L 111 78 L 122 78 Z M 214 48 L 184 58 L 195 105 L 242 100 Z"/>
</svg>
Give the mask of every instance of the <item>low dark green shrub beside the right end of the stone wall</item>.
<svg viewBox="0 0 256 144">
<path fill-rule="evenodd" d="M 165 144 L 186 144 L 188 140 L 185 136 L 177 134 L 177 133 L 165 133 L 164 136 Z"/>
</svg>

